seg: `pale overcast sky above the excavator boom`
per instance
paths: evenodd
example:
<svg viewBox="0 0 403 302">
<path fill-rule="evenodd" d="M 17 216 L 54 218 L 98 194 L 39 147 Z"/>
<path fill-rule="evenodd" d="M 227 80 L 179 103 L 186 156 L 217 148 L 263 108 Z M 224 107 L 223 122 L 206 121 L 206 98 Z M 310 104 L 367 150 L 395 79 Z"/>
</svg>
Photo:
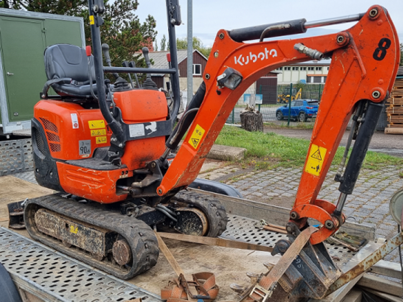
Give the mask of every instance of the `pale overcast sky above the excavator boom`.
<svg viewBox="0 0 403 302">
<path fill-rule="evenodd" d="M 187 0 L 179 0 L 183 24 L 176 27 L 178 38 L 186 37 Z M 220 29 L 236 29 L 305 18 L 316 21 L 364 13 L 374 4 L 386 8 L 403 42 L 403 0 L 193 0 L 193 36 L 212 46 Z M 136 11 L 142 22 L 150 14 L 157 21 L 158 48 L 163 34 L 168 38 L 166 0 L 139 0 Z M 309 29 L 310 36 L 345 30 L 354 23 Z M 306 35 L 305 34 L 305 35 Z"/>
</svg>

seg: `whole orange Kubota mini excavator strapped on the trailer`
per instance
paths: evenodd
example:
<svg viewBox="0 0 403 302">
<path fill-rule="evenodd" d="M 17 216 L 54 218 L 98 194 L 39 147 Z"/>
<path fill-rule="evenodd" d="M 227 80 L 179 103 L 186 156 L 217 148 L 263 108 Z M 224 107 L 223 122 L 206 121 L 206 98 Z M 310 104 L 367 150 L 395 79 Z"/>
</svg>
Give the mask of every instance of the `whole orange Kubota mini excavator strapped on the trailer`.
<svg viewBox="0 0 403 302">
<path fill-rule="evenodd" d="M 399 42 L 387 11 L 372 6 L 363 14 L 317 22 L 300 19 L 220 30 L 204 82 L 171 130 L 179 107 L 174 47 L 174 26 L 181 23 L 178 1 L 167 0 L 172 66 L 167 69 L 103 66 L 99 34 L 103 10 L 102 0 L 89 0 L 93 56 L 70 45 L 54 45 L 45 53 L 49 81 L 32 120 L 35 176 L 40 185 L 60 193 L 27 201 L 24 219 L 29 234 L 123 279 L 157 261 L 157 240 L 149 225 L 219 236 L 227 221 L 223 206 L 183 189 L 196 179 L 237 100 L 271 70 L 331 57 L 286 227 L 289 240 L 279 241 L 274 249 L 283 257 L 259 277 L 245 299 L 320 298 L 337 288 L 331 285 L 341 273 L 322 242 L 345 221 L 343 206 L 397 72 Z M 357 22 L 353 27 L 337 34 L 264 41 L 353 21 Z M 249 40 L 259 41 L 245 43 Z M 108 63 L 107 47 L 103 48 Z M 117 74 L 110 85 L 104 72 L 169 73 L 173 108 L 150 77 L 141 88 L 133 88 Z M 58 96 L 48 96 L 49 87 Z M 351 118 L 350 138 L 356 141 L 344 173 L 337 176 L 341 194 L 333 205 L 317 195 Z M 186 131 L 176 156 L 172 155 Z M 309 226 L 308 218 L 322 226 Z"/>
</svg>

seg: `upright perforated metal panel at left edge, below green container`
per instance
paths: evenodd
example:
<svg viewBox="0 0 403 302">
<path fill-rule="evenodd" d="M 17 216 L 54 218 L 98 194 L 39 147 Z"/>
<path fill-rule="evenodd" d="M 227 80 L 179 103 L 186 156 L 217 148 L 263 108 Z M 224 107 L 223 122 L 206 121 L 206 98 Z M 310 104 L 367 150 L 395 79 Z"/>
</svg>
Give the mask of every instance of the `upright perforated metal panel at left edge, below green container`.
<svg viewBox="0 0 403 302">
<path fill-rule="evenodd" d="M 0 141 L 0 176 L 32 171 L 31 138 Z"/>
</svg>

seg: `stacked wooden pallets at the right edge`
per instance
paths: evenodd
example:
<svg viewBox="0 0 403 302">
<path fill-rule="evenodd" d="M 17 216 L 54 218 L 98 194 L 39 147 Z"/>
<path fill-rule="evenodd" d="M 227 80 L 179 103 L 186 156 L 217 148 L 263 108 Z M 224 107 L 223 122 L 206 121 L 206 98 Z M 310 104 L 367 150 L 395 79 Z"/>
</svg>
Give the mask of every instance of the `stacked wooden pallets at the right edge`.
<svg viewBox="0 0 403 302">
<path fill-rule="evenodd" d="M 403 72 L 401 67 L 399 67 L 390 98 L 385 104 L 388 122 L 385 133 L 387 134 L 403 134 L 403 77 L 399 77 L 400 72 Z"/>
</svg>

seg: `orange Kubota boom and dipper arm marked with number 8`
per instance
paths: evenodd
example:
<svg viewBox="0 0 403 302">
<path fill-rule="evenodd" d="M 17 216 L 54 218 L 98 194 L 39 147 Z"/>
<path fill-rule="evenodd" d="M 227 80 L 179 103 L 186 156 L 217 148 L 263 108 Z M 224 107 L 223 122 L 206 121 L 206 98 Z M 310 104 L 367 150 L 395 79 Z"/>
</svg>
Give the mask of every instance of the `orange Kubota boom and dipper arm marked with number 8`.
<svg viewBox="0 0 403 302">
<path fill-rule="evenodd" d="M 378 110 L 377 104 L 388 97 L 392 88 L 399 61 L 398 38 L 387 11 L 373 6 L 360 17 L 349 30 L 292 40 L 243 43 L 234 41 L 231 32 L 220 30 L 204 72 L 204 100 L 157 189 L 158 195 L 186 187 L 196 178 L 232 108 L 257 79 L 284 65 L 331 57 L 291 218 L 299 228 L 304 227 L 307 218 L 325 226 L 312 234 L 312 244 L 337 231 L 344 222 L 342 205 L 336 208 L 328 201 L 318 200 L 318 192 L 357 104 L 366 100 L 367 111 L 372 107 Z M 234 73 L 237 79 L 237 74 L 242 76 L 233 90 L 220 82 L 229 73 Z M 361 127 L 364 126 L 365 123 Z M 367 147 L 361 148 L 364 155 L 355 170 L 361 167 Z M 357 177 L 358 173 L 353 172 Z M 355 180 L 346 178 L 349 183 L 342 183 L 347 188 L 342 191 L 342 199 L 351 194 Z"/>
</svg>

